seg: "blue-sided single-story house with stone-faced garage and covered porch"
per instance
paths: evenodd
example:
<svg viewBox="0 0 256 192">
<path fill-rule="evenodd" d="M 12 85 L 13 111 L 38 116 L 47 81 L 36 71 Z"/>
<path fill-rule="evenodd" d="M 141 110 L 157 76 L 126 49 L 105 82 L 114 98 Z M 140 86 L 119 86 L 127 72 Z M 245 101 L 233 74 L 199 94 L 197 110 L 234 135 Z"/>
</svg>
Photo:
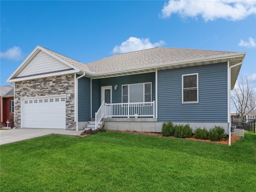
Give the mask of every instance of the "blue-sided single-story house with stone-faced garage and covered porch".
<svg viewBox="0 0 256 192">
<path fill-rule="evenodd" d="M 96 116 L 112 130 L 161 132 L 171 120 L 228 134 L 245 54 L 158 47 L 83 64 L 37 46 L 7 80 L 15 127 L 82 130 Z"/>
</svg>

